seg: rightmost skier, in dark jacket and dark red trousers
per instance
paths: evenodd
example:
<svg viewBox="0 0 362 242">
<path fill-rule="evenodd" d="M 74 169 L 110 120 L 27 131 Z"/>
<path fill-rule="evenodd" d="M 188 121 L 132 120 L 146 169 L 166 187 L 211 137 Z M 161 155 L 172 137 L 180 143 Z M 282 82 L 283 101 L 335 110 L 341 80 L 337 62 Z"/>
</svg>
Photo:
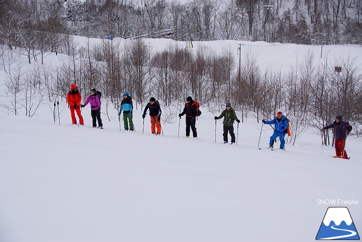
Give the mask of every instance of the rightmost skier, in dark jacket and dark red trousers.
<svg viewBox="0 0 362 242">
<path fill-rule="evenodd" d="M 328 125 L 321 130 L 333 128 L 333 134 L 336 137 L 334 141 L 334 148 L 336 149 L 336 156 L 333 158 L 343 158 L 348 159 L 347 152 L 345 150 L 346 138 L 348 135 L 348 129 L 343 122 L 343 117 L 338 115 L 336 117 L 336 121 L 334 121 L 331 125 Z"/>
</svg>

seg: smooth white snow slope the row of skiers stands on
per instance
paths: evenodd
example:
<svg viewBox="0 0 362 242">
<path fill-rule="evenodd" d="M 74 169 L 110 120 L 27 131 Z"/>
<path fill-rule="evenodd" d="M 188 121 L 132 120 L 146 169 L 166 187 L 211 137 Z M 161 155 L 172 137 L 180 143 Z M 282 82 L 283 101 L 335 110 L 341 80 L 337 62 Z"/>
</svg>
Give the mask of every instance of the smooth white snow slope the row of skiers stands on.
<svg viewBox="0 0 362 242">
<path fill-rule="evenodd" d="M 155 48 L 167 41 L 147 40 Z M 258 52 L 262 67 L 285 71 L 308 50 L 320 53 L 320 46 L 242 43 Z M 323 53 L 362 63 L 358 46 L 325 46 Z M 64 101 L 61 125 L 54 124 L 53 103 L 33 118 L 0 110 L 0 242 L 305 242 L 314 241 L 329 206 L 348 207 L 362 231 L 361 138 L 348 138 L 348 161 L 333 159 L 334 148 L 322 147 L 313 130 L 286 151 L 270 151 L 272 129 L 249 118 L 234 125 L 238 145 L 224 145 L 221 120 L 215 143 L 213 117 L 220 113 L 201 110 L 198 139 L 184 137 L 184 116 L 154 136 L 148 116 L 142 133 L 142 110 L 134 111 L 136 132 L 120 131 L 117 110 L 111 121 L 102 115 L 104 130 L 93 129 L 89 106 L 82 109 L 85 125 L 71 125 Z"/>
</svg>

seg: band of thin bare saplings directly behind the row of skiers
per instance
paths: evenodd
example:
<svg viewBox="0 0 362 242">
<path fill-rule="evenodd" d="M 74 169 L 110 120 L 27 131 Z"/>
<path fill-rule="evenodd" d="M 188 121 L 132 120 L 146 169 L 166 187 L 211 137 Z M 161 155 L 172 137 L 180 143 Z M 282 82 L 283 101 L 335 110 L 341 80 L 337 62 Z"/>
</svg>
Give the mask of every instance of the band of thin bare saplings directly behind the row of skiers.
<svg viewBox="0 0 362 242">
<path fill-rule="evenodd" d="M 86 39 L 86 45 L 79 45 L 74 37 L 63 35 L 60 47 L 68 58 L 57 66 L 42 65 L 38 60 L 39 68 L 30 70 L 11 65 L 11 55 L 22 52 L 2 46 L 0 66 L 7 75 L 8 102 L 0 106 L 15 115 L 21 109 L 33 116 L 42 102 L 64 101 L 70 84 L 77 83 L 81 91 L 94 87 L 102 91 L 102 112 L 108 120 L 119 109 L 122 93 L 127 90 L 137 109 L 142 109 L 150 96 L 157 97 L 167 110 L 163 122 L 177 117 L 185 97 L 191 95 L 211 112 L 219 112 L 225 102 L 232 102 L 241 120 L 270 119 L 283 110 L 293 126 L 292 139 L 288 140 L 292 144 L 303 132 L 320 134 L 320 127 L 339 114 L 353 125 L 352 135 L 360 135 L 362 69 L 355 59 L 320 64 L 314 63 L 314 53 L 307 53 L 298 66 L 282 73 L 261 69 L 251 51 L 241 56 L 239 66 L 230 49 L 215 52 L 201 46 L 189 51 L 175 42 L 156 51 L 142 39 L 103 40 L 98 44 Z M 335 72 L 336 63 L 343 67 L 341 72 Z M 325 144 L 333 144 L 330 139 L 333 137 L 325 133 Z"/>
</svg>

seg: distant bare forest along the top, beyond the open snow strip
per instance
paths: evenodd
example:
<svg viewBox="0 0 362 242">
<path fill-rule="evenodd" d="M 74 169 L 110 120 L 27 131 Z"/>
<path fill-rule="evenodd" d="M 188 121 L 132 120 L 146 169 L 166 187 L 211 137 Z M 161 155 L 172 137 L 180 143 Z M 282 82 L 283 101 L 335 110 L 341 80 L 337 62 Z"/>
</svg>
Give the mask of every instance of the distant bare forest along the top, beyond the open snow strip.
<svg viewBox="0 0 362 242">
<path fill-rule="evenodd" d="M 59 35 L 361 44 L 361 0 L 0 0 L 0 44 L 38 58 Z"/>
</svg>

